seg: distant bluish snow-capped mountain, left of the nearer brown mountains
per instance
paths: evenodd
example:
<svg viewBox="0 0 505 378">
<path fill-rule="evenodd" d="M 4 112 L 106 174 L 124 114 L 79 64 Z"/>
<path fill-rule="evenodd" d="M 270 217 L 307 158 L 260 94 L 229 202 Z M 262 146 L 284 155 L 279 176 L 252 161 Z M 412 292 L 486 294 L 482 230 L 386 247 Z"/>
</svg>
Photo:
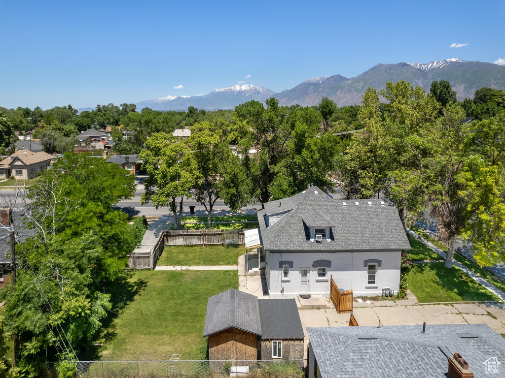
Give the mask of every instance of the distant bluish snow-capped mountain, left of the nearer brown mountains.
<svg viewBox="0 0 505 378">
<path fill-rule="evenodd" d="M 189 106 L 198 109 L 233 109 L 235 106 L 250 100 L 264 102 L 273 97 L 275 92 L 265 87 L 251 84 L 234 85 L 226 88 L 216 88 L 211 93 L 197 96 L 165 96 L 156 100 L 139 102 L 137 109 L 149 107 L 153 110 L 186 110 Z"/>
</svg>

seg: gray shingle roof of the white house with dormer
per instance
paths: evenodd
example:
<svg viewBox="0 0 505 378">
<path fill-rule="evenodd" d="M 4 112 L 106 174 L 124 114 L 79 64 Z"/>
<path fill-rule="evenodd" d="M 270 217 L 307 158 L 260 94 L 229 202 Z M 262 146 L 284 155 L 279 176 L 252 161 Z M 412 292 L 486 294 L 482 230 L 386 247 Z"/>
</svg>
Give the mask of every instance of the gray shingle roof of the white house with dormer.
<svg viewBox="0 0 505 378">
<path fill-rule="evenodd" d="M 317 195 L 315 192 L 318 192 Z M 359 206 L 355 205 L 355 201 Z M 384 205 L 381 204 L 384 201 Z M 346 206 L 343 206 L 343 202 Z M 371 205 L 368 205 L 371 202 Z M 291 211 L 289 211 L 291 210 Z M 265 215 L 289 211 L 267 228 Z M 331 242 L 310 243 L 309 226 L 330 226 Z M 398 211 L 387 200 L 333 200 L 317 186 L 258 211 L 261 237 L 268 250 L 400 250 L 410 249 Z"/>
</svg>

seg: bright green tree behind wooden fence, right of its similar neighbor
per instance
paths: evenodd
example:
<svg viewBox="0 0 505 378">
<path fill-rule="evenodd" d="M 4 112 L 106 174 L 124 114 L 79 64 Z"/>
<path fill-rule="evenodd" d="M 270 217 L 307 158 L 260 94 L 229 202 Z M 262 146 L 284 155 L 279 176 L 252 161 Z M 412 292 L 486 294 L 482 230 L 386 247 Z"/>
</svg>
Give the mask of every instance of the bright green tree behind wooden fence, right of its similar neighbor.
<svg viewBox="0 0 505 378">
<path fill-rule="evenodd" d="M 210 122 L 195 123 L 187 140 L 197 175 L 192 195 L 205 206 L 209 228 L 212 209 L 219 198 L 232 211 L 245 204 L 243 184 L 235 179 L 240 176 L 245 178 L 245 172 L 241 175 L 240 161 L 231 153 L 222 131 Z"/>
</svg>

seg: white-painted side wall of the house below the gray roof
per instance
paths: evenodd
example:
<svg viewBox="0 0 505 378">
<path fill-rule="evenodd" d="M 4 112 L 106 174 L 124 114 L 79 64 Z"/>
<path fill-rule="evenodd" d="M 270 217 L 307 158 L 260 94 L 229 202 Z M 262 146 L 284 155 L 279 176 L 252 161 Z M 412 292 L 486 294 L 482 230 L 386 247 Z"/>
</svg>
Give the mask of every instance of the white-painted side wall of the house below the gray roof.
<svg viewBox="0 0 505 378">
<path fill-rule="evenodd" d="M 388 252 L 295 252 L 269 253 L 269 281 L 270 298 L 294 298 L 298 294 L 322 294 L 330 296 L 330 276 L 340 289 L 352 289 L 355 296 L 381 295 L 382 288 L 389 287 L 395 292 L 399 290 L 401 251 Z M 318 277 L 318 268 L 313 267 L 315 261 L 329 260 L 331 267 L 326 268 L 326 278 Z M 368 285 L 367 260 L 378 260 L 376 285 Z M 288 278 L 283 278 L 283 268 L 280 262 L 292 262 Z M 308 285 L 301 288 L 300 268 L 309 269 Z M 284 289 L 282 295 L 281 289 Z"/>
</svg>

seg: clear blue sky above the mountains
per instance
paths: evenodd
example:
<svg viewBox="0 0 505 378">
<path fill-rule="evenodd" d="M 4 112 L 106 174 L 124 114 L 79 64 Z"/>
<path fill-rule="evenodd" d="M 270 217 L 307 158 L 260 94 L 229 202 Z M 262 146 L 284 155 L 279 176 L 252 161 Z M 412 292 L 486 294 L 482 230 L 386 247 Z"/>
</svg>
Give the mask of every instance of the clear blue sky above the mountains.
<svg viewBox="0 0 505 378">
<path fill-rule="evenodd" d="M 139 102 L 239 81 L 280 92 L 378 63 L 505 59 L 503 1 L 4 0 L 0 12 L 6 107 Z"/>
</svg>

